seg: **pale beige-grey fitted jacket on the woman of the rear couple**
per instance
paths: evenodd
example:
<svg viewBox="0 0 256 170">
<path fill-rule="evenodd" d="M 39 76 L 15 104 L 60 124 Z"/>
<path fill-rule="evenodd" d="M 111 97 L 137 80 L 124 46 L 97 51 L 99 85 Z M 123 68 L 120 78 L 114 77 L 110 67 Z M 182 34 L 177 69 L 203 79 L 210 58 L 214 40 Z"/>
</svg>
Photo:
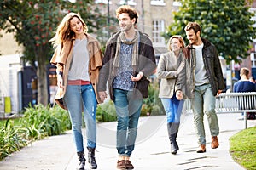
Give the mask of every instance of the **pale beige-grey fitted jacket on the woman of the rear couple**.
<svg viewBox="0 0 256 170">
<path fill-rule="evenodd" d="M 177 67 L 183 59 L 182 52 L 178 57 L 172 51 L 160 55 L 156 71 L 156 77 L 160 79 L 160 98 L 172 98 L 178 76 Z"/>
</svg>

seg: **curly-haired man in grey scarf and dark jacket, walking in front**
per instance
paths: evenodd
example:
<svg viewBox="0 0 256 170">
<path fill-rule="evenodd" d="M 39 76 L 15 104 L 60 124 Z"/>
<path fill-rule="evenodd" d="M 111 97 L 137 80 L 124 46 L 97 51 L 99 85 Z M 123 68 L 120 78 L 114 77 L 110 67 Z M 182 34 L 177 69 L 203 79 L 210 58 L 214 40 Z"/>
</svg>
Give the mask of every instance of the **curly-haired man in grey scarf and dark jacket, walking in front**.
<svg viewBox="0 0 256 170">
<path fill-rule="evenodd" d="M 148 35 L 137 31 L 138 14 L 128 5 L 116 10 L 120 31 L 108 40 L 99 77 L 99 93 L 106 88 L 118 116 L 116 149 L 118 169 L 133 169 L 130 157 L 137 138 L 143 98 L 148 97 L 148 76 L 155 70 L 154 48 Z"/>
</svg>

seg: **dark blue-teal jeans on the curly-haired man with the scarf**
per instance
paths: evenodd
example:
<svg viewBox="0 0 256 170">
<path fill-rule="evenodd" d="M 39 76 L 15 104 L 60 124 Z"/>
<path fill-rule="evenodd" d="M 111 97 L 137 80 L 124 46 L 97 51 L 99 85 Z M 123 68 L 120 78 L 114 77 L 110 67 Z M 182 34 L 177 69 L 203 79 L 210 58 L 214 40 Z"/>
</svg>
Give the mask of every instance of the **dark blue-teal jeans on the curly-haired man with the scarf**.
<svg viewBox="0 0 256 170">
<path fill-rule="evenodd" d="M 137 123 L 143 98 L 134 97 L 133 91 L 113 89 L 114 106 L 118 116 L 116 148 L 119 156 L 131 156 L 137 137 Z"/>
</svg>

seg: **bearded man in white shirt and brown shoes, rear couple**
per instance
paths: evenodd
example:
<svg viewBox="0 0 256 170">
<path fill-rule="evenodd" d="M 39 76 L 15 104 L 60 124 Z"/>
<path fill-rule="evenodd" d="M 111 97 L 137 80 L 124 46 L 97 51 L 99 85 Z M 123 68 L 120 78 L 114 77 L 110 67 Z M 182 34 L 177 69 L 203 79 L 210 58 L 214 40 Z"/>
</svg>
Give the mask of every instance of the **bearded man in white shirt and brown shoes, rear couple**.
<svg viewBox="0 0 256 170">
<path fill-rule="evenodd" d="M 212 135 L 212 149 L 218 148 L 218 116 L 215 111 L 215 97 L 224 89 L 224 77 L 221 70 L 218 52 L 212 42 L 201 38 L 201 26 L 196 22 L 189 22 L 185 26 L 189 45 L 187 46 L 188 59 L 184 71 L 186 88 L 184 94 L 190 99 L 194 113 L 195 133 L 199 147 L 197 153 L 206 152 L 206 134 L 204 115 L 207 115 Z"/>
</svg>

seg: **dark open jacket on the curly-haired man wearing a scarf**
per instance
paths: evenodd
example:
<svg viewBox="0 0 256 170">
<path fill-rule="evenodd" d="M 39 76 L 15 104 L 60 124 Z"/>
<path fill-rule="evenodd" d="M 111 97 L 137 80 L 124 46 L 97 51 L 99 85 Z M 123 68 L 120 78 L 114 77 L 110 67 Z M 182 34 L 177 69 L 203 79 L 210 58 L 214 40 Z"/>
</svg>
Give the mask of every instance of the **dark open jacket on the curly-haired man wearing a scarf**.
<svg viewBox="0 0 256 170">
<path fill-rule="evenodd" d="M 117 38 L 119 36 L 119 32 L 115 33 L 113 37 L 111 37 L 106 46 L 106 50 L 103 57 L 103 66 L 100 70 L 99 75 L 99 84 L 98 91 L 106 91 L 106 85 L 108 81 L 108 89 L 110 99 L 113 99 L 113 79 L 117 75 L 115 75 L 114 67 L 113 67 L 113 59 L 116 53 L 117 46 Z M 148 35 L 143 34 L 139 31 L 139 43 L 138 43 L 138 63 L 133 67 L 133 76 L 136 77 L 138 72 L 143 72 L 143 78 L 135 83 L 136 89 L 142 94 L 143 98 L 148 97 L 148 84 L 149 81 L 147 79 L 148 76 L 154 73 L 156 68 L 155 65 L 155 57 L 154 57 L 154 48 L 151 40 L 148 38 Z"/>
</svg>

